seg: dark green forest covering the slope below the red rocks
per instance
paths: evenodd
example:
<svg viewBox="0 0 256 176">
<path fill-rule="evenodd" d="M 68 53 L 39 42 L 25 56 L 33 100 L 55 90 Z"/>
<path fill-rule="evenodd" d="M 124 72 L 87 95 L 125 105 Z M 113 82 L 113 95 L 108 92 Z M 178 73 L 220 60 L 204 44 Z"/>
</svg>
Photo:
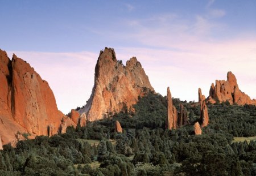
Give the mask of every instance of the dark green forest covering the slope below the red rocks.
<svg viewBox="0 0 256 176">
<path fill-rule="evenodd" d="M 177 111 L 184 105 L 188 125 L 166 130 L 166 97 L 148 92 L 134 111 L 18 141 L 15 148 L 3 145 L 0 175 L 256 175 L 256 137 L 239 141 L 256 136 L 256 106 L 207 104 L 209 125 L 195 135 L 200 105 L 173 102 Z"/>
</svg>

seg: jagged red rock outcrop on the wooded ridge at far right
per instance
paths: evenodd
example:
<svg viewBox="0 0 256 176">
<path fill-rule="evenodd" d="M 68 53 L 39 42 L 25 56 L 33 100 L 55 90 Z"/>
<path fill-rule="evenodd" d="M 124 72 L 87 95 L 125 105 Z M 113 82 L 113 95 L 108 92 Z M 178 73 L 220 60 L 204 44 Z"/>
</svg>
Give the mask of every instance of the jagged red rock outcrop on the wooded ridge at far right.
<svg viewBox="0 0 256 176">
<path fill-rule="evenodd" d="M 228 72 L 226 81 L 216 80 L 215 86 L 212 83 L 210 86 L 209 97 L 207 99 L 212 103 L 215 103 L 216 101 L 229 101 L 230 104 L 256 105 L 256 100 L 251 100 L 248 95 L 240 91 L 236 76 L 232 74 L 231 71 Z"/>
</svg>

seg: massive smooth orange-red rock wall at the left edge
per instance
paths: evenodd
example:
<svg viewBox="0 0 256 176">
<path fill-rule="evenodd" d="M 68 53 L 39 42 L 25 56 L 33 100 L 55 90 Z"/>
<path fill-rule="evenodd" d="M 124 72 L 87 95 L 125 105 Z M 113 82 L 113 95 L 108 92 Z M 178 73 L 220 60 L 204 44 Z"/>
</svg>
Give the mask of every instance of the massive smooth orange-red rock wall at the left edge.
<svg viewBox="0 0 256 176">
<path fill-rule="evenodd" d="M 48 126 L 56 134 L 64 114 L 57 109 L 47 81 L 34 68 L 0 50 L 0 135 L 3 144 L 16 140 L 16 134 L 48 135 Z M 75 126 L 74 123 L 72 125 Z"/>
</svg>

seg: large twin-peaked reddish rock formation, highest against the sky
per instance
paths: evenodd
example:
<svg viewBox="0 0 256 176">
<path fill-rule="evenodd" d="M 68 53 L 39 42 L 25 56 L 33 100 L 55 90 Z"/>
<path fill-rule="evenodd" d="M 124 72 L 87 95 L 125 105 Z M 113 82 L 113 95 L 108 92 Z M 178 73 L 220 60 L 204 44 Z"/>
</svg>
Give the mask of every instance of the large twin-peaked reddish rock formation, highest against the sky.
<svg viewBox="0 0 256 176">
<path fill-rule="evenodd" d="M 137 58 L 131 58 L 124 66 L 115 57 L 114 49 L 105 48 L 95 67 L 92 95 L 79 113 L 85 112 L 89 121 L 96 121 L 113 111 L 130 110 L 145 88 L 154 91 Z"/>
</svg>

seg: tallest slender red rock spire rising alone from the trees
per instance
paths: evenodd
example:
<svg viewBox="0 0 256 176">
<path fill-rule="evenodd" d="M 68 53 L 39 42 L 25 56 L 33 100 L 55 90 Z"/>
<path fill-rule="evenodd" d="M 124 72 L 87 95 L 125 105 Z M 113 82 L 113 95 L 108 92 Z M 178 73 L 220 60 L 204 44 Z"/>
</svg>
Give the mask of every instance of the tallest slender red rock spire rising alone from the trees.
<svg viewBox="0 0 256 176">
<path fill-rule="evenodd" d="M 167 119 L 166 119 L 166 129 L 172 130 L 172 128 L 177 128 L 177 110 L 172 104 L 172 95 L 170 88 L 167 88 Z"/>
</svg>

